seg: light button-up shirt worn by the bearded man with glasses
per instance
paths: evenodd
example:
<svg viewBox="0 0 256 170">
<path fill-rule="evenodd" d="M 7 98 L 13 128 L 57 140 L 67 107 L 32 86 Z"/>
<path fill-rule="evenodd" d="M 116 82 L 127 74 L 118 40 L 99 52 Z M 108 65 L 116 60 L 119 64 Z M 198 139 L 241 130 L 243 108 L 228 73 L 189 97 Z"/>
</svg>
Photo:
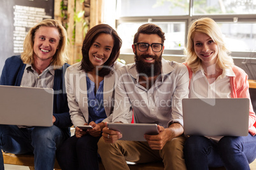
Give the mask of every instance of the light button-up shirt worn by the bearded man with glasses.
<svg viewBox="0 0 256 170">
<path fill-rule="evenodd" d="M 178 122 L 183 126 L 181 99 L 188 98 L 188 70 L 176 62 L 162 59 L 161 75 L 146 89 L 139 84 L 135 63 L 117 70 L 113 122 L 130 123 L 132 108 L 135 123 L 155 123 L 169 127 Z"/>
</svg>

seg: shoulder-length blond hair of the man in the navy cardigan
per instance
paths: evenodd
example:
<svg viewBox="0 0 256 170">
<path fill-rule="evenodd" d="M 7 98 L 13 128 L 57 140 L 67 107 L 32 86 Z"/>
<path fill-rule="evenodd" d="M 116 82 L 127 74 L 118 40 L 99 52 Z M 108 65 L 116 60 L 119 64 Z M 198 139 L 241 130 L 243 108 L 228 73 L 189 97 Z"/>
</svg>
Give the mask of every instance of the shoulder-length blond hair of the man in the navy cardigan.
<svg viewBox="0 0 256 170">
<path fill-rule="evenodd" d="M 53 67 L 59 68 L 64 63 L 68 62 L 68 36 L 66 29 L 62 26 L 62 24 L 58 20 L 52 20 L 52 19 L 46 19 L 42 22 L 39 22 L 34 27 L 32 27 L 29 32 L 27 33 L 27 36 L 24 40 L 24 52 L 21 54 L 21 59 L 25 64 L 32 64 L 34 63 L 34 35 L 36 31 L 39 29 L 39 27 L 55 27 L 59 31 L 59 48 L 57 49 L 55 55 L 52 58 L 52 65 Z"/>
</svg>

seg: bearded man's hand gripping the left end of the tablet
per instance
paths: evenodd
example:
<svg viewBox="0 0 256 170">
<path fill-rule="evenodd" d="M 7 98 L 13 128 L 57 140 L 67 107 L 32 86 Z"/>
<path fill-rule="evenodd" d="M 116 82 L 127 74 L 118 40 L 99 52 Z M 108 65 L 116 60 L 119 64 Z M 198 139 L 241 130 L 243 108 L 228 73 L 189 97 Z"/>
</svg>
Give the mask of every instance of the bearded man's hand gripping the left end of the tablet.
<svg viewBox="0 0 256 170">
<path fill-rule="evenodd" d="M 118 139 L 122 138 L 122 134 L 118 131 L 108 129 L 108 122 L 105 122 L 103 128 L 103 139 L 106 143 L 115 143 Z"/>
</svg>

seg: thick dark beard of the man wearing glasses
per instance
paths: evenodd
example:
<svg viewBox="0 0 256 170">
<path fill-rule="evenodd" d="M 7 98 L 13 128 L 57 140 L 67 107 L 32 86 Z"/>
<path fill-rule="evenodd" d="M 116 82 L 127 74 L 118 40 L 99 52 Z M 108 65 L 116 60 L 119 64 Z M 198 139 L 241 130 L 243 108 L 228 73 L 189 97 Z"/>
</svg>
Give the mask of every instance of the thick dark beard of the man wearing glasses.
<svg viewBox="0 0 256 170">
<path fill-rule="evenodd" d="M 155 59 L 154 63 L 145 63 L 140 58 L 152 57 Z M 135 54 L 136 70 L 139 74 L 145 74 L 148 77 L 159 75 L 162 70 L 162 55 L 140 55 Z"/>
</svg>

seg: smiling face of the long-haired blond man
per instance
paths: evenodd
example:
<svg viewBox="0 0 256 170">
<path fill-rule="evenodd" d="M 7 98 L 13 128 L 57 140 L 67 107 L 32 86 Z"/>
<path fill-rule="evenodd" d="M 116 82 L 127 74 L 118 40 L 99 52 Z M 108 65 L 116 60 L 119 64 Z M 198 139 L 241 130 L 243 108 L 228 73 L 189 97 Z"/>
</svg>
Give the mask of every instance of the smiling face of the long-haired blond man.
<svg viewBox="0 0 256 170">
<path fill-rule="evenodd" d="M 55 27 L 39 27 L 34 34 L 34 60 L 50 62 L 59 46 L 59 31 Z"/>
</svg>

